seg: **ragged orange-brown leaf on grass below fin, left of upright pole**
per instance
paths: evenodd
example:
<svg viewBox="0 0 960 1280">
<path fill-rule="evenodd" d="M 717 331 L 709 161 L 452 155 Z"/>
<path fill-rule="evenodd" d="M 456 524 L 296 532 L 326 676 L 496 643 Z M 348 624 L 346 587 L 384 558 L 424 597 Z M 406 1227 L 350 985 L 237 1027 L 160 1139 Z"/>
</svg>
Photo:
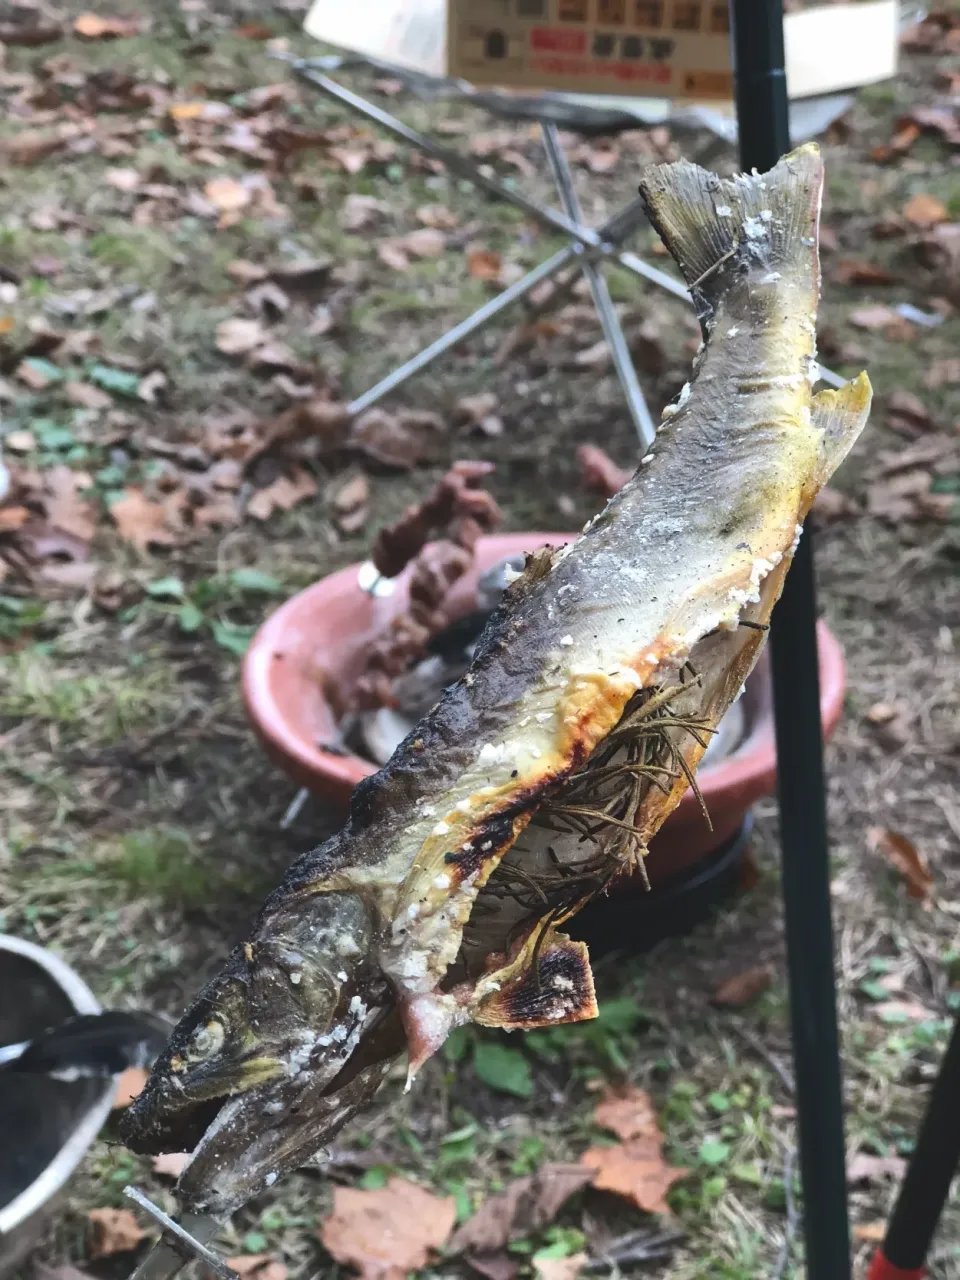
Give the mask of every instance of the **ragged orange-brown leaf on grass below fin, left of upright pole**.
<svg viewBox="0 0 960 1280">
<path fill-rule="evenodd" d="M 627 1138 L 616 1147 L 590 1147 L 580 1157 L 595 1171 L 593 1185 L 632 1201 L 646 1213 L 668 1213 L 664 1197 L 689 1170 L 672 1169 L 664 1161 L 663 1135 L 649 1096 L 635 1087 L 609 1094 L 598 1105 L 594 1120 Z"/>
</svg>

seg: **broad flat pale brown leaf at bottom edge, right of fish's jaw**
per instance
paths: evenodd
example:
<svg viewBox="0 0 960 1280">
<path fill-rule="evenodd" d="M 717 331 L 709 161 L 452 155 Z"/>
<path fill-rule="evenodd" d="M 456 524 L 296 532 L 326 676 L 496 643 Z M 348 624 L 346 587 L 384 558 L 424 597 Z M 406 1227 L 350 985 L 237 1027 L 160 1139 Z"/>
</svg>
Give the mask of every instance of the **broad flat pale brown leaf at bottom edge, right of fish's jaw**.
<svg viewBox="0 0 960 1280">
<path fill-rule="evenodd" d="M 364 1280 L 406 1280 L 444 1244 L 456 1220 L 452 1196 L 390 1178 L 378 1190 L 335 1187 L 320 1239 L 337 1262 L 355 1267 Z"/>
</svg>

